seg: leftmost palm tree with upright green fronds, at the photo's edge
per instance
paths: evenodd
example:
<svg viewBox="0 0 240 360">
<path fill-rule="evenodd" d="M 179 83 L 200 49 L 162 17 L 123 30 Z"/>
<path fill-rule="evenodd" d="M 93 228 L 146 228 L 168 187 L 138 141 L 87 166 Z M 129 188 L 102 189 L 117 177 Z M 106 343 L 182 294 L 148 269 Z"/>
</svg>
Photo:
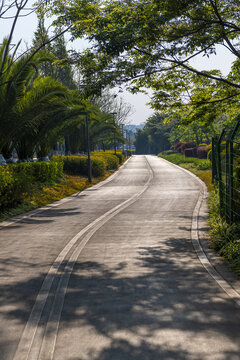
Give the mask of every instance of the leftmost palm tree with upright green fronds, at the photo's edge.
<svg viewBox="0 0 240 360">
<path fill-rule="evenodd" d="M 45 52 L 39 52 L 29 62 L 27 55 L 14 61 L 14 54 L 8 53 L 6 45 L 7 39 L 4 39 L 0 46 L 0 67 L 3 65 L 0 79 L 0 154 L 4 152 L 4 155 L 8 156 L 13 147 L 13 138 L 22 133 L 32 121 L 30 117 L 17 116 L 19 101 L 32 87 L 37 75 L 37 67 L 41 62 L 46 61 L 47 57 Z M 1 63 L 3 58 L 4 64 Z"/>
</svg>

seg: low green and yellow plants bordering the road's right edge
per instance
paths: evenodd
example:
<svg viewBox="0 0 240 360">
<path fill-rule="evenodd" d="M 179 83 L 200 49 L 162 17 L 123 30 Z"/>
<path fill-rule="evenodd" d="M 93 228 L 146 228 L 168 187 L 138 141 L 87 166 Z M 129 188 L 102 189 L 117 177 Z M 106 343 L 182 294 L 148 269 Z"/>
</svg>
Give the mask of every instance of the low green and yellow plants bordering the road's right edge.
<svg viewBox="0 0 240 360">
<path fill-rule="evenodd" d="M 205 182 L 209 192 L 209 247 L 225 258 L 231 270 L 240 276 L 240 231 L 236 224 L 228 224 L 221 216 L 218 188 L 212 184 L 211 161 L 171 152 L 158 156 L 191 171 Z"/>
</svg>

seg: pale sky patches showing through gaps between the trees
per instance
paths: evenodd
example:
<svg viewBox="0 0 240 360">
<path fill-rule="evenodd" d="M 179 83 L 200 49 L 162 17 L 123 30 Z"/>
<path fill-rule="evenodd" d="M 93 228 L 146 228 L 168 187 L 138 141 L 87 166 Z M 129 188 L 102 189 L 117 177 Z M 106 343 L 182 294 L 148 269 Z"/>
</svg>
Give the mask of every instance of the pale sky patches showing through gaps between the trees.
<svg viewBox="0 0 240 360">
<path fill-rule="evenodd" d="M 3 20 L 0 19 L 0 31 L 2 38 L 7 36 L 10 32 L 12 20 Z M 24 18 L 20 18 L 17 22 L 16 29 L 13 36 L 13 43 L 17 43 L 22 39 L 22 48 L 26 49 L 25 43 L 29 45 L 32 42 L 34 31 L 37 28 L 37 17 L 35 14 L 29 15 Z M 85 46 L 83 41 L 76 41 L 74 43 L 69 42 L 69 48 L 74 48 L 76 50 L 81 50 Z M 199 70 L 211 70 L 213 68 L 220 69 L 224 75 L 226 75 L 230 68 L 231 63 L 234 60 L 234 57 L 230 54 L 228 50 L 224 47 L 218 47 L 217 55 L 212 55 L 210 58 L 202 57 L 197 58 L 191 61 L 191 65 L 194 65 Z M 114 90 L 115 91 L 115 90 Z M 115 93 L 118 93 L 116 89 Z M 150 95 L 149 91 L 149 95 Z M 133 114 L 127 119 L 128 123 L 131 124 L 141 124 L 147 120 L 147 118 L 154 114 L 153 109 L 147 102 L 150 101 L 150 96 L 145 94 L 131 94 L 128 91 L 123 93 L 118 93 L 118 96 L 121 96 L 125 99 L 126 102 L 130 103 L 134 108 Z"/>
</svg>

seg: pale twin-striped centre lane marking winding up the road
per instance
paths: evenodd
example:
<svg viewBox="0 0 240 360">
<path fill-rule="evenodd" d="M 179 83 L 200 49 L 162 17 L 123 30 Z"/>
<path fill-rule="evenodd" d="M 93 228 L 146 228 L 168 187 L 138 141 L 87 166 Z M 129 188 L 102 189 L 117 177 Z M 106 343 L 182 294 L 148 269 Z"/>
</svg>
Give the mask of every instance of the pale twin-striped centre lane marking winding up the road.
<svg viewBox="0 0 240 360">
<path fill-rule="evenodd" d="M 145 158 L 146 159 L 146 158 Z M 144 185 L 143 189 L 133 195 L 131 198 L 129 198 L 128 200 L 125 200 L 123 203 L 115 206 L 113 209 L 107 211 L 105 214 L 101 215 L 98 219 L 94 220 L 92 223 L 90 223 L 88 226 L 86 226 L 84 229 L 82 229 L 77 235 L 75 235 L 70 241 L 69 243 L 64 247 L 64 249 L 61 251 L 61 253 L 58 255 L 58 257 L 56 258 L 55 262 L 53 263 L 53 265 L 51 266 L 48 274 L 46 275 L 43 285 L 38 293 L 38 296 L 36 298 L 35 304 L 32 308 L 31 314 L 29 316 L 28 322 L 25 326 L 25 329 L 22 333 L 20 342 L 18 344 L 15 356 L 13 358 L 13 360 L 36 360 L 38 358 L 38 356 L 41 356 L 42 359 L 47 360 L 47 359 L 52 359 L 51 357 L 42 357 L 41 354 L 44 353 L 44 347 L 42 347 L 41 353 L 39 355 L 39 351 L 41 349 L 41 344 L 42 344 L 42 333 L 43 331 L 41 329 L 38 329 L 38 325 L 39 325 L 39 321 L 41 319 L 42 313 L 43 313 L 43 309 L 44 306 L 46 304 L 52 283 L 54 278 L 56 277 L 59 267 L 62 264 L 62 262 L 64 261 L 65 257 L 67 256 L 67 254 L 69 253 L 69 251 L 72 249 L 72 247 L 76 244 L 76 242 L 83 236 L 85 235 L 89 230 L 90 233 L 87 234 L 82 241 L 80 242 L 80 244 L 76 247 L 76 249 L 74 250 L 72 256 L 70 257 L 70 259 L 75 259 L 76 256 L 79 256 L 80 252 L 82 251 L 83 247 L 85 246 L 85 244 L 87 243 L 87 241 L 90 239 L 90 237 L 103 225 L 105 224 L 109 219 L 111 219 L 113 216 L 115 216 L 116 214 L 118 214 L 121 210 L 125 209 L 126 207 L 128 207 L 129 205 L 131 205 L 132 203 L 134 203 L 141 195 L 143 192 L 145 192 L 147 190 L 147 188 L 149 187 L 149 184 L 153 178 L 153 171 L 146 159 L 147 165 L 149 167 L 149 172 L 150 172 L 150 176 L 148 178 L 148 181 L 146 182 L 146 184 Z M 79 252 L 80 251 L 80 252 Z M 77 259 L 77 258 L 76 258 Z M 75 260 L 76 261 L 76 260 Z M 70 264 L 71 261 L 69 260 L 68 264 Z M 60 293 L 62 293 L 62 305 L 60 305 L 60 312 L 58 314 L 59 320 L 60 320 L 60 316 L 61 316 L 61 310 L 62 310 L 62 306 L 63 306 L 63 301 L 64 301 L 64 297 L 65 297 L 65 293 L 67 290 L 67 284 L 68 284 L 68 279 L 71 275 L 72 272 L 72 268 L 74 266 L 74 263 L 71 264 L 71 271 L 68 271 L 67 266 L 65 267 L 65 269 L 67 269 L 67 276 L 65 276 L 64 279 L 64 274 L 63 273 L 61 275 L 61 279 L 60 279 L 60 283 L 58 286 L 60 286 L 59 289 L 61 289 Z M 61 281 L 64 284 L 64 287 L 61 288 Z M 54 308 L 51 311 L 51 314 L 53 313 Z M 50 315 L 51 315 L 50 314 Z M 58 330 L 58 326 L 59 326 L 59 320 L 56 323 L 56 327 L 55 330 L 53 332 L 53 336 L 51 339 L 53 339 L 53 342 L 51 342 L 50 347 L 53 348 L 53 350 L 50 350 L 50 355 L 53 356 L 53 352 L 54 352 L 54 347 L 55 347 L 55 341 L 56 341 L 56 336 L 57 336 L 57 330 Z M 50 326 L 50 325 L 49 325 Z M 47 330 L 50 330 L 50 328 L 48 328 Z M 46 334 L 46 332 L 45 332 Z M 50 336 L 50 334 L 47 334 L 48 336 Z M 37 338 L 36 338 L 37 337 Z M 46 336 L 44 335 L 44 341 L 46 342 Z M 48 343 L 50 343 L 48 341 Z M 53 345 L 52 345 L 53 344 Z M 45 355 L 44 355 L 45 356 Z"/>
</svg>

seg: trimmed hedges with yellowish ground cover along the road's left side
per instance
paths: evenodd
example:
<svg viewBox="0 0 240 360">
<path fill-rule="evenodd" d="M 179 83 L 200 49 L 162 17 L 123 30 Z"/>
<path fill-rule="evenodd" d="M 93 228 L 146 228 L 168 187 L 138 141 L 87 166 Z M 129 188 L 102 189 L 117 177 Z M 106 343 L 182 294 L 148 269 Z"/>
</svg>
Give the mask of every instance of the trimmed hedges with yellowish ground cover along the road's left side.
<svg viewBox="0 0 240 360">
<path fill-rule="evenodd" d="M 0 221 L 83 191 L 105 180 L 124 161 L 122 152 L 96 152 L 92 183 L 87 178 L 86 156 L 0 166 Z"/>
</svg>

